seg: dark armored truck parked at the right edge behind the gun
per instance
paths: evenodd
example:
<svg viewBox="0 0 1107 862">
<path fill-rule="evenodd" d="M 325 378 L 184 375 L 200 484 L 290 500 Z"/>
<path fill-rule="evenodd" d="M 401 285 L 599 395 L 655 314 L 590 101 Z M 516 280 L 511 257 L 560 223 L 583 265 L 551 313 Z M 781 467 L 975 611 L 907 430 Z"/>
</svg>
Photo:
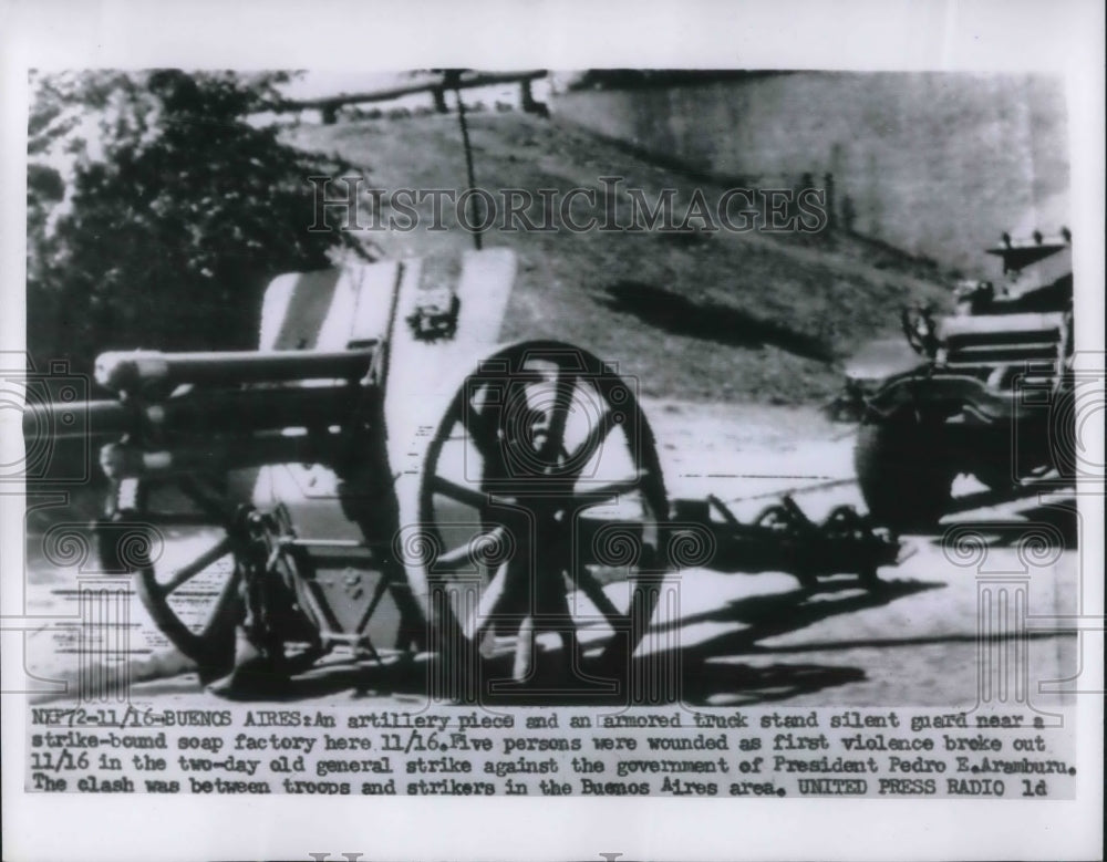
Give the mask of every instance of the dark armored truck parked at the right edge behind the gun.
<svg viewBox="0 0 1107 862">
<path fill-rule="evenodd" d="M 848 363 L 837 402 L 875 520 L 932 528 L 960 474 L 994 491 L 1075 471 L 1072 235 L 1004 233 L 996 281 L 962 281 L 954 311 L 904 309 L 903 337 Z"/>
</svg>

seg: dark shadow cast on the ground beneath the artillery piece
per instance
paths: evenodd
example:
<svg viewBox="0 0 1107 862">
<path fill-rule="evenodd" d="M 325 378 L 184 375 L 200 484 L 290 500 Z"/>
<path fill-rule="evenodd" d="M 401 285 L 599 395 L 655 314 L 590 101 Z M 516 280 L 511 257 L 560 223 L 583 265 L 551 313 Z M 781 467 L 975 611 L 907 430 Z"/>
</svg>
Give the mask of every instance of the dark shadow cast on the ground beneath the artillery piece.
<svg viewBox="0 0 1107 862">
<path fill-rule="evenodd" d="M 687 706 L 755 705 L 786 700 L 790 697 L 856 683 L 866 678 L 863 668 L 830 666 L 810 662 L 779 662 L 758 666 L 734 661 L 742 655 L 765 655 L 776 652 L 759 642 L 811 625 L 828 616 L 853 613 L 867 607 L 888 604 L 938 584 L 914 581 L 891 581 L 876 590 L 860 590 L 856 580 L 826 582 L 815 590 L 788 590 L 773 595 L 735 600 L 708 612 L 692 614 L 668 626 L 653 630 L 654 643 L 673 646 L 635 655 L 628 668 L 630 697 L 617 686 L 614 674 L 606 674 L 594 663 L 586 662 L 579 671 L 583 682 L 566 684 L 559 651 L 545 653 L 537 676 L 526 688 L 514 686 L 510 679 L 511 656 L 499 655 L 480 665 L 480 689 L 485 696 L 454 698 L 444 695 L 437 703 L 475 703 L 485 706 L 621 706 L 664 707 L 683 703 Z M 681 632 L 700 623 L 718 623 L 722 633 L 704 641 L 681 645 Z M 831 645 L 832 648 L 832 645 Z M 788 650 L 780 652 L 787 653 Z M 163 669 L 175 667 L 176 675 L 135 678 L 133 699 L 159 699 L 201 695 L 195 667 L 185 660 L 162 662 Z M 545 671 L 542 668 L 546 668 Z M 254 693 L 244 700 L 257 703 L 296 703 L 319 698 L 339 698 L 355 705 L 362 699 L 387 698 L 401 705 L 426 705 L 428 692 L 442 678 L 443 660 L 437 655 L 385 657 L 381 662 L 351 661 L 341 656 L 323 660 L 310 671 L 291 679 L 275 679 L 266 690 Z M 488 694 L 493 688 L 498 690 Z M 213 696 L 214 697 L 214 696 Z M 50 698 L 55 699 L 55 698 Z"/>
</svg>

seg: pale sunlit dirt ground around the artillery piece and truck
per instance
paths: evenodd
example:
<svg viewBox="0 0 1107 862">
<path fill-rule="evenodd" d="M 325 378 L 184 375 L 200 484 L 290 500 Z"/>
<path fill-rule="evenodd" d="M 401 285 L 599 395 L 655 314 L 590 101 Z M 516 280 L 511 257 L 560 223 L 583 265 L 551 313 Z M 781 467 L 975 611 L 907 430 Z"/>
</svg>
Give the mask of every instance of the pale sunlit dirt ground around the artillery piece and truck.
<svg viewBox="0 0 1107 862">
<path fill-rule="evenodd" d="M 815 409 L 673 401 L 645 402 L 644 407 L 671 498 L 714 494 L 744 521 L 782 492 L 793 494 L 815 520 L 841 503 L 862 506 L 852 481 L 850 428 Z M 1002 692 L 1003 698 L 1048 710 L 1068 697 L 1047 694 L 1067 687 L 1051 686 L 1051 681 L 1073 677 L 1080 666 L 1080 642 L 1062 619 L 1079 610 L 1072 494 L 971 508 L 976 490 L 971 480 L 959 480 L 954 491 L 963 510 L 943 522 L 946 529 L 960 525 L 962 534 L 968 530 L 976 537 L 975 544 L 903 537 L 901 558 L 907 559 L 881 570 L 884 585 L 876 591 L 861 589 L 851 575 L 804 591 L 783 573 L 685 570 L 674 575 L 677 601 L 658 612 L 639 654 L 677 638 L 679 696 L 689 704 L 969 709 Z M 1037 548 L 1034 534 L 1059 537 L 1061 547 Z M 74 643 L 81 620 L 74 591 L 79 565 L 46 563 L 37 548 L 42 541 L 32 536 L 29 542 L 28 612 L 42 622 L 24 634 L 28 688 L 45 699 L 68 699 L 76 693 L 80 664 L 90 662 Z M 990 616 L 987 596 L 1004 591 L 1024 593 L 1025 619 Z M 213 696 L 166 648 L 137 598 L 130 598 L 127 612 L 131 698 L 209 703 Z M 982 637 L 990 619 L 991 637 Z M 1025 640 L 1015 637 L 1020 633 Z M 1025 652 L 1011 652 L 1018 644 Z M 1004 679 L 990 676 L 1001 654 L 1014 658 L 1006 667 L 1014 668 L 1017 681 L 1008 672 Z M 411 704 L 425 697 L 423 661 L 400 672 L 331 656 L 310 675 L 321 684 L 290 696 Z"/>
</svg>

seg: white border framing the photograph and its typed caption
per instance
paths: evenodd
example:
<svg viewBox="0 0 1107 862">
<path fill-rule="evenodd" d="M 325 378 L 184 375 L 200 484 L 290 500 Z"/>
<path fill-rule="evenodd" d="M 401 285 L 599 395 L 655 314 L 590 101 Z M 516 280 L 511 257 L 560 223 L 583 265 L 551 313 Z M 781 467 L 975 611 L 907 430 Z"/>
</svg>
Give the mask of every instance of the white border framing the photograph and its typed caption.
<svg viewBox="0 0 1107 862">
<path fill-rule="evenodd" d="M 1043 71 L 1065 76 L 1077 345 L 1104 345 L 1104 10 L 1097 2 L 0 2 L 4 350 L 21 350 L 27 72 L 474 66 Z M 1086 241 L 1085 241 L 1086 240 Z M 1098 245 L 1097 245 L 1098 242 Z M 8 429 L 4 428 L 7 434 Z M 1101 428 L 1100 428 L 1101 432 Z M 4 446 L 12 445 L 8 439 Z M 1100 446 L 1101 463 L 1101 445 Z M 0 498 L 3 580 L 22 512 Z M 1103 498 L 1082 499 L 1101 525 Z M 1103 572 L 1103 534 L 1080 541 Z M 1103 579 L 1087 578 L 1103 610 Z M 4 588 L 7 590 L 7 588 Z M 7 613 L 7 611 L 6 611 Z M 1085 635 L 1103 678 L 1103 633 Z M 8 667 L 4 675 L 21 673 Z M 1074 802 L 89 798 L 23 792 L 25 710 L 3 703 L 4 855 L 31 859 L 1094 859 L 1103 700 L 1079 699 Z M 489 843 L 488 837 L 495 837 Z"/>
</svg>

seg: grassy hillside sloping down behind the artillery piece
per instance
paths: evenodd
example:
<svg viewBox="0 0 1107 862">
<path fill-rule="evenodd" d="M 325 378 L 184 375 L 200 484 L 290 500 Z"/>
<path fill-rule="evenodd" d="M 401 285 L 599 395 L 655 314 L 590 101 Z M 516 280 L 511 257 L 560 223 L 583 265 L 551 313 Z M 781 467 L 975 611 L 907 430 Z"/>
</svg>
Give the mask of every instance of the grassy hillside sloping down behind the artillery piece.
<svg viewBox="0 0 1107 862">
<path fill-rule="evenodd" d="M 470 133 L 477 184 L 487 189 L 537 197 L 539 188 L 599 188 L 599 177 L 618 175 L 650 200 L 677 189 L 679 214 L 694 188 L 712 202 L 724 190 L 527 115 L 474 114 Z M 304 125 L 288 134 L 363 166 L 374 188 L 464 187 L 454 116 Z M 425 230 L 431 202 L 420 209 L 418 229 L 365 237 L 390 256 L 472 247 L 461 229 Z M 581 201 L 575 218 L 586 210 Z M 540 220 L 537 210 L 532 218 Z M 456 226 L 448 206 L 443 224 Z M 514 248 L 521 262 L 508 339 L 578 343 L 618 362 L 655 397 L 825 399 L 840 385 L 845 356 L 896 331 L 902 303 L 946 295 L 932 263 L 846 235 L 492 231 L 485 242 Z"/>
</svg>

